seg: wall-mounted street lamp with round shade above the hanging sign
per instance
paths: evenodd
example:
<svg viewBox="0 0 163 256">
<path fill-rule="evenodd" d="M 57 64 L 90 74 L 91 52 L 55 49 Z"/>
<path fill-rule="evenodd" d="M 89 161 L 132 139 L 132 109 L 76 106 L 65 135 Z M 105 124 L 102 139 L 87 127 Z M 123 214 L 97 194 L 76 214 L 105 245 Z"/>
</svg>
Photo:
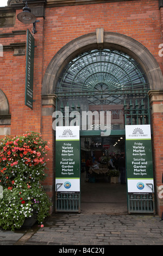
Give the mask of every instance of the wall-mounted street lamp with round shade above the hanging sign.
<svg viewBox="0 0 163 256">
<path fill-rule="evenodd" d="M 23 11 L 17 15 L 17 19 L 24 24 L 33 23 L 33 33 L 36 33 L 36 16 L 31 13 L 27 2 L 25 3 L 25 7 L 23 7 Z"/>
</svg>

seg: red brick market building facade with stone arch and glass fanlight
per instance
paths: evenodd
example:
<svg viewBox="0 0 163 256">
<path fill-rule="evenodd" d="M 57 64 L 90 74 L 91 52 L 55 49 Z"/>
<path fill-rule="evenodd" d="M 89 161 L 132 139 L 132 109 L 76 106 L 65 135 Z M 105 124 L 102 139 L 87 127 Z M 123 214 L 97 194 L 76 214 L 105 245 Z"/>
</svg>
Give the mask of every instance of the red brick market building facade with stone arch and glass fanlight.
<svg viewBox="0 0 163 256">
<path fill-rule="evenodd" d="M 24 24 L 17 19 L 24 2 L 9 0 L 7 7 L 0 8 L 0 43 L 3 49 L 0 52 L 1 138 L 7 134 L 14 136 L 35 131 L 41 132 L 43 138 L 51 142 L 48 178 L 44 185 L 49 196 L 54 198 L 53 112 L 61 110 L 61 104 L 66 106 L 66 102 L 71 108 L 73 103 L 76 108 L 79 103 L 80 109 L 89 105 L 108 105 L 108 109 L 109 105 L 121 105 L 122 109 L 124 100 L 129 106 L 130 100 L 135 104 L 136 99 L 143 99 L 151 119 L 150 122 L 149 119 L 143 120 L 143 124 L 151 124 L 152 127 L 155 204 L 156 212 L 161 215 L 163 1 L 30 0 L 27 1 L 28 7 L 39 21 L 35 23 L 36 33 L 32 33 L 33 24 Z M 35 39 L 33 108 L 24 103 L 27 29 Z M 96 60 L 91 65 L 93 58 Z M 106 72 L 107 66 L 110 71 Z M 127 92 L 131 89 L 132 92 Z M 101 99 L 105 96 L 103 102 L 99 94 L 95 95 L 97 92 L 102 93 Z M 71 95 L 66 97 L 61 93 Z M 76 93 L 82 93 L 80 99 Z M 139 122 L 142 115 L 145 116 L 145 112 L 139 115 Z M 125 136 L 125 124 L 138 124 L 135 119 L 135 123 L 130 122 L 130 118 L 127 117 L 128 123 L 124 120 L 121 124 L 120 121 L 116 123 L 118 115 L 114 110 L 112 138 Z M 84 138 L 95 133 L 84 135 L 83 131 L 80 135 Z M 119 151 L 123 150 L 118 148 L 115 152 Z"/>
</svg>

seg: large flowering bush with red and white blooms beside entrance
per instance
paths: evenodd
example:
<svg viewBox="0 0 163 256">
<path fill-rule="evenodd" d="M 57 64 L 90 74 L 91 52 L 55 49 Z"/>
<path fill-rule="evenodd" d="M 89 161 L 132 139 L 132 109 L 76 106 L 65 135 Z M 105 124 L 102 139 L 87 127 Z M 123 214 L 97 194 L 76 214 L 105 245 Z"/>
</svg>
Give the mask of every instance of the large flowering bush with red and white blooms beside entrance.
<svg viewBox="0 0 163 256">
<path fill-rule="evenodd" d="M 45 180 L 48 143 L 41 135 L 28 132 L 23 136 L 5 137 L 0 141 L 0 227 L 21 228 L 35 210 L 42 223 L 49 212 L 49 198 L 41 181 Z"/>
</svg>

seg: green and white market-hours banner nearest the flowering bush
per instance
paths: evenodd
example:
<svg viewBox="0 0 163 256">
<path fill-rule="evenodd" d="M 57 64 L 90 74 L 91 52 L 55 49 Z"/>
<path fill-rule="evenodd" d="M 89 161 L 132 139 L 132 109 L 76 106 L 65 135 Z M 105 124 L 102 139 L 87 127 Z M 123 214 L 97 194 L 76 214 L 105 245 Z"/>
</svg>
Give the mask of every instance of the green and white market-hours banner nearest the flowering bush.
<svg viewBox="0 0 163 256">
<path fill-rule="evenodd" d="M 57 192 L 80 192 L 79 126 L 57 126 L 55 149 L 55 186 Z"/>
</svg>

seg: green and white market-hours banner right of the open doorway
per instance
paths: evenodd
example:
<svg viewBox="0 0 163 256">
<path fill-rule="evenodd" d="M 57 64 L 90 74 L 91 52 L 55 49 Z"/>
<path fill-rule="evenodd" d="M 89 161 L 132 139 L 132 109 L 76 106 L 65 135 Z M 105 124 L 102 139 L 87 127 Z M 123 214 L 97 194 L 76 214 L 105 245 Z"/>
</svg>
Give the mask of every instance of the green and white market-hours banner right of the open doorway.
<svg viewBox="0 0 163 256">
<path fill-rule="evenodd" d="M 126 125 L 128 193 L 154 192 L 151 125 Z"/>
</svg>

